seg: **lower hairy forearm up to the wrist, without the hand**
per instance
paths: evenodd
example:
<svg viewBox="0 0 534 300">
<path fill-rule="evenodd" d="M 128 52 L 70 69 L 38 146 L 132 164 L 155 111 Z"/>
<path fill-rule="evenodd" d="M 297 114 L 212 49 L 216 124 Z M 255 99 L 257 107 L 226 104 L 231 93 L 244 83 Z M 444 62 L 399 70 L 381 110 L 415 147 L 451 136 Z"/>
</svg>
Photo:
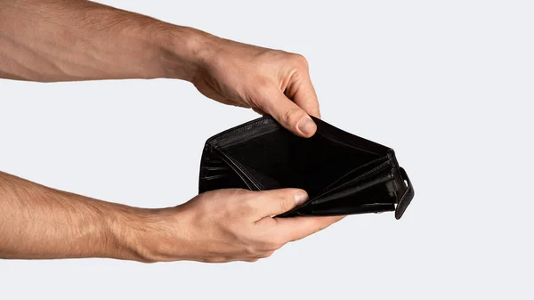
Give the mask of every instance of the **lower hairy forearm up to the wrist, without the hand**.
<svg viewBox="0 0 534 300">
<path fill-rule="evenodd" d="M 141 241 L 150 215 L 0 172 L 0 258 L 146 261 Z"/>
</svg>

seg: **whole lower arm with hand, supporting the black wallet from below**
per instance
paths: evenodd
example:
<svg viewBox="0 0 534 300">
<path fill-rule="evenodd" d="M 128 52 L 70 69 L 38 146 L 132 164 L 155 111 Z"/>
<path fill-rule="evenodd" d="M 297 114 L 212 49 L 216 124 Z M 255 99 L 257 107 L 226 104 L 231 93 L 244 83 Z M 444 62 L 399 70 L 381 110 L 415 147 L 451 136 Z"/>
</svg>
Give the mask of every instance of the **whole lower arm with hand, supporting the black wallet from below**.
<svg viewBox="0 0 534 300">
<path fill-rule="evenodd" d="M 0 172 L 0 258 L 253 262 L 342 218 L 271 217 L 306 198 L 297 189 L 229 189 L 206 192 L 178 207 L 148 209 Z"/>
</svg>

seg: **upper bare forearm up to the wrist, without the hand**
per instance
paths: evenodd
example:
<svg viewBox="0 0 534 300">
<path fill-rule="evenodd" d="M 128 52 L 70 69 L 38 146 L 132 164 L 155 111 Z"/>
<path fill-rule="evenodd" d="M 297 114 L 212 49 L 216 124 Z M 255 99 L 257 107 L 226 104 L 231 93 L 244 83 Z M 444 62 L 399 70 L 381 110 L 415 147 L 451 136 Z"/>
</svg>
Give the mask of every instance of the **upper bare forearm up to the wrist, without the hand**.
<svg viewBox="0 0 534 300">
<path fill-rule="evenodd" d="M 208 35 L 84 0 L 4 0 L 0 77 L 190 79 L 203 36 Z"/>
</svg>

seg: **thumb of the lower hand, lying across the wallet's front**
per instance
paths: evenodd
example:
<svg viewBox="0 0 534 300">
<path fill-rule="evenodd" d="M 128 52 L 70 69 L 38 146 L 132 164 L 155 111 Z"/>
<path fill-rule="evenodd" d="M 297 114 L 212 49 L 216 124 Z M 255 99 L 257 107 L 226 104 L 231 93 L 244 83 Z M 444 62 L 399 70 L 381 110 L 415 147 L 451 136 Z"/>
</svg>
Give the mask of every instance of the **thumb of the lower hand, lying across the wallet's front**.
<svg viewBox="0 0 534 300">
<path fill-rule="evenodd" d="M 300 189 L 279 189 L 259 191 L 260 201 L 255 201 L 255 211 L 260 217 L 280 215 L 302 205 L 307 199 L 306 191 Z"/>
</svg>

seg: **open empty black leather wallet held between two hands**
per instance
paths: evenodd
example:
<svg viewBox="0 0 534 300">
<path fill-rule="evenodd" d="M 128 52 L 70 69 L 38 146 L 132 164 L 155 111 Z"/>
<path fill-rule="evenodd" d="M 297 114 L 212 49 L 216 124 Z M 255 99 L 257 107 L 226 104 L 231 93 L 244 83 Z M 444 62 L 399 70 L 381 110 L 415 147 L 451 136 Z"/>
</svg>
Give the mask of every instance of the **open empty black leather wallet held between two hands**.
<svg viewBox="0 0 534 300">
<path fill-rule="evenodd" d="M 263 117 L 206 141 L 199 192 L 227 188 L 300 188 L 308 200 L 278 215 L 354 215 L 394 211 L 400 219 L 414 197 L 392 149 L 313 118 L 303 138 Z"/>
</svg>

